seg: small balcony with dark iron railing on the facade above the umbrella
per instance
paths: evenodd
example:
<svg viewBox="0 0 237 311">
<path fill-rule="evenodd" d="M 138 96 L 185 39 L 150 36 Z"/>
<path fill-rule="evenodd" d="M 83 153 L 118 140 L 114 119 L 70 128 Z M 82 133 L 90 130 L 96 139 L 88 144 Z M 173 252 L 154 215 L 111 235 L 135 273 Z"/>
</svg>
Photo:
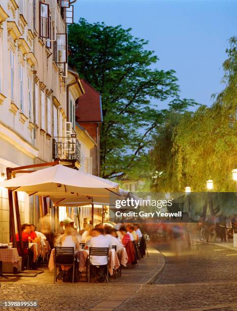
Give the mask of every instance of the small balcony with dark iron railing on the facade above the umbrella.
<svg viewBox="0 0 237 311">
<path fill-rule="evenodd" d="M 53 137 L 53 160 L 61 164 L 80 166 L 80 143 L 76 134 L 71 137 Z"/>
</svg>

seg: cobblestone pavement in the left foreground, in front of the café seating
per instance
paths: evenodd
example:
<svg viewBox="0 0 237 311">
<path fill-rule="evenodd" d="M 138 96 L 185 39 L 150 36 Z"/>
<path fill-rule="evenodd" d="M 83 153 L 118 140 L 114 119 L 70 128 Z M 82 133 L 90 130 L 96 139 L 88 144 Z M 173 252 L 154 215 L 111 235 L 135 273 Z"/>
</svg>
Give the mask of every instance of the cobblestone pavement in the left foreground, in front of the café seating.
<svg viewBox="0 0 237 311">
<path fill-rule="evenodd" d="M 0 300 L 38 301 L 38 308 L 2 308 L 3 310 L 89 310 L 121 286 L 114 284 L 25 285 L 1 284 Z"/>
</svg>

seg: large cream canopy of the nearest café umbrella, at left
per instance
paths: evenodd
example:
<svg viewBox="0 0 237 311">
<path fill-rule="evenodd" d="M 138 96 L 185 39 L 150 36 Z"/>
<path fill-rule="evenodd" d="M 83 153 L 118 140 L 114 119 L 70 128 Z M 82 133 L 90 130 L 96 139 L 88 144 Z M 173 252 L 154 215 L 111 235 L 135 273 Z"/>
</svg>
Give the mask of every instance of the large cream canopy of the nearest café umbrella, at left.
<svg viewBox="0 0 237 311">
<path fill-rule="evenodd" d="M 119 194 L 117 183 L 60 164 L 6 180 L 0 187 L 54 197 Z"/>
</svg>

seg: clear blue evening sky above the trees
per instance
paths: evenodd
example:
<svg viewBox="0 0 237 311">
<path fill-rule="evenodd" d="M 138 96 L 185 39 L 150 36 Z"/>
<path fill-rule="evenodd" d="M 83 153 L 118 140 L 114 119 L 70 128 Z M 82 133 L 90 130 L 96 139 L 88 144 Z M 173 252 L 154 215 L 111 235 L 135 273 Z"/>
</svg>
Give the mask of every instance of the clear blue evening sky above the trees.
<svg viewBox="0 0 237 311">
<path fill-rule="evenodd" d="M 74 21 L 132 28 L 149 40 L 158 69 L 174 69 L 182 98 L 211 105 L 223 88 L 228 39 L 237 35 L 237 0 L 77 0 Z M 159 104 L 164 108 L 165 103 Z"/>
</svg>

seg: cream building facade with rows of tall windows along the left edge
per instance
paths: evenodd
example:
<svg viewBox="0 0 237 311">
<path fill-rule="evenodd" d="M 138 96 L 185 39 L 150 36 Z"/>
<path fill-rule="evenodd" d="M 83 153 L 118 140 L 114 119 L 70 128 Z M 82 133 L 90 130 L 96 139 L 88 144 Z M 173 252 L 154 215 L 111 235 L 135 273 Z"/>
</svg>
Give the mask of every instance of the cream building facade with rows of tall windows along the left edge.
<svg viewBox="0 0 237 311">
<path fill-rule="evenodd" d="M 0 1 L 1 180 L 6 178 L 7 167 L 51 162 L 53 138 L 66 136 L 71 4 Z M 21 222 L 36 222 L 37 198 L 22 193 L 19 201 Z M 8 192 L 0 189 L 0 241 L 8 240 Z"/>
</svg>

